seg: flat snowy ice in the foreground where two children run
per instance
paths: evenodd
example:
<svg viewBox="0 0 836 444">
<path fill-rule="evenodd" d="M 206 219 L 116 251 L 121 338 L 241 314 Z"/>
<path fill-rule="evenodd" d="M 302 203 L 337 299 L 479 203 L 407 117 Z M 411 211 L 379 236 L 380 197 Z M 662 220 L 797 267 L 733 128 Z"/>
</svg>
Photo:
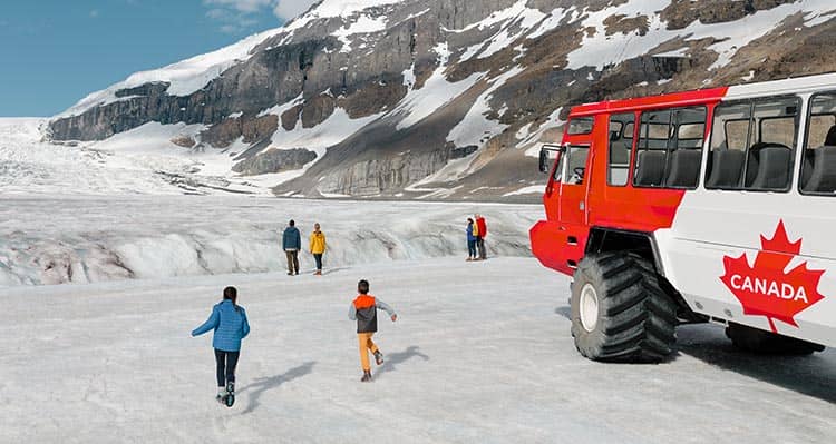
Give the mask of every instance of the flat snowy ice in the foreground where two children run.
<svg viewBox="0 0 836 444">
<path fill-rule="evenodd" d="M 361 384 L 357 279 L 392 305 Z M 235 285 L 252 333 L 239 396 L 214 401 L 211 335 Z M 3 443 L 832 443 L 836 353 L 738 353 L 680 327 L 661 365 L 581 357 L 568 280 L 531 258 L 16 287 L 3 302 Z"/>
</svg>

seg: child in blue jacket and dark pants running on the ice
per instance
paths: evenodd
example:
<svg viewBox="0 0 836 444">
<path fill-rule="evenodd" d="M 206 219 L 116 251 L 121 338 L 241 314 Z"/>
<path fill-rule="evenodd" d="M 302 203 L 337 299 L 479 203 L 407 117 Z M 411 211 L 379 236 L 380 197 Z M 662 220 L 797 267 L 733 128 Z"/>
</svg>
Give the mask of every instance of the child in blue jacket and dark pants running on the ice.
<svg viewBox="0 0 836 444">
<path fill-rule="evenodd" d="M 250 334 L 244 307 L 236 304 L 237 289 L 224 288 L 224 298 L 212 307 L 212 314 L 203 325 L 192 332 L 200 336 L 214 330 L 212 346 L 215 348 L 217 364 L 217 401 L 223 402 L 227 394 L 235 393 L 235 366 L 241 353 L 241 339 Z"/>
</svg>

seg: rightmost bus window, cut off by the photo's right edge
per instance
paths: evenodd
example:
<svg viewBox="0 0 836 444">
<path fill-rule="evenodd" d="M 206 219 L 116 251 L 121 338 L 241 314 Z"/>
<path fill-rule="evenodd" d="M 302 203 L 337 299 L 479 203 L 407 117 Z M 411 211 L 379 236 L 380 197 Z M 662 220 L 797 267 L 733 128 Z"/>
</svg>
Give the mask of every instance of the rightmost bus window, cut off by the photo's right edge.
<svg viewBox="0 0 836 444">
<path fill-rule="evenodd" d="M 804 194 L 836 195 L 836 93 L 810 99 L 799 185 Z"/>
</svg>

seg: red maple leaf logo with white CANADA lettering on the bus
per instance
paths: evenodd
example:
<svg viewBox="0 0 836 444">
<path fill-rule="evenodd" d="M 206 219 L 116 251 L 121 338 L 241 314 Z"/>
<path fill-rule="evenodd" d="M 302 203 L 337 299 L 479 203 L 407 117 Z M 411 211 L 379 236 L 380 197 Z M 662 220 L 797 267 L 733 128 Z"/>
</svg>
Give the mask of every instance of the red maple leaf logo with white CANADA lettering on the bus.
<svg viewBox="0 0 836 444">
<path fill-rule="evenodd" d="M 723 256 L 726 274 L 720 280 L 743 306 L 743 314 L 766 316 L 774 333 L 778 319 L 798 327 L 794 317 L 824 299 L 818 293 L 823 269 L 808 269 L 803 263 L 785 273 L 790 260 L 801 250 L 801 239 L 789 241 L 784 220 L 778 223 L 771 239 L 760 236 L 761 249 L 755 265 L 743 253 L 738 258 Z"/>
</svg>

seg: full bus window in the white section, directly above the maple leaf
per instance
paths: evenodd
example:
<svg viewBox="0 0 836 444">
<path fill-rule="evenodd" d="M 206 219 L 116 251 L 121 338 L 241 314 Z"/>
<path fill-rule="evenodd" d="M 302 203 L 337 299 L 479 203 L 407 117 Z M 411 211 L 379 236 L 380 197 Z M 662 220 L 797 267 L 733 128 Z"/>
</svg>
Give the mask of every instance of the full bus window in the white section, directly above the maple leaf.
<svg viewBox="0 0 836 444">
<path fill-rule="evenodd" d="M 788 190 L 798 103 L 788 97 L 718 106 L 706 187 Z"/>
</svg>

